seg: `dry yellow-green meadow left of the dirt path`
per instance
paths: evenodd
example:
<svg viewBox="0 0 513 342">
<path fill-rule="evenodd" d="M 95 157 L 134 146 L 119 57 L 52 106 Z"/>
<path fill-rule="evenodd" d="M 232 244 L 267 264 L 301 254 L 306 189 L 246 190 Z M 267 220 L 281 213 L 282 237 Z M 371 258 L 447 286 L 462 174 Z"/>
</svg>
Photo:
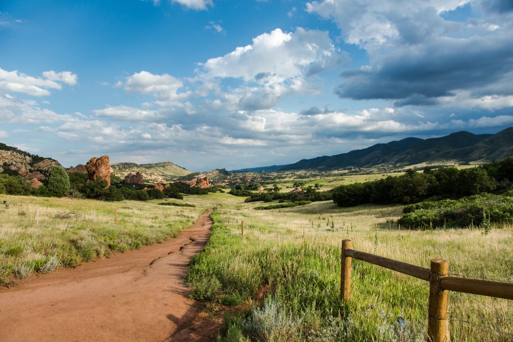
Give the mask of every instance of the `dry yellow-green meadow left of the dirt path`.
<svg viewBox="0 0 513 342">
<path fill-rule="evenodd" d="M 103 202 L 2 195 L 0 285 L 10 285 L 16 278 L 26 278 L 34 272 L 49 273 L 114 252 L 162 243 L 190 226 L 214 203 L 223 203 L 218 194 L 185 197 L 193 207 L 158 205 L 162 199 Z"/>
</svg>

